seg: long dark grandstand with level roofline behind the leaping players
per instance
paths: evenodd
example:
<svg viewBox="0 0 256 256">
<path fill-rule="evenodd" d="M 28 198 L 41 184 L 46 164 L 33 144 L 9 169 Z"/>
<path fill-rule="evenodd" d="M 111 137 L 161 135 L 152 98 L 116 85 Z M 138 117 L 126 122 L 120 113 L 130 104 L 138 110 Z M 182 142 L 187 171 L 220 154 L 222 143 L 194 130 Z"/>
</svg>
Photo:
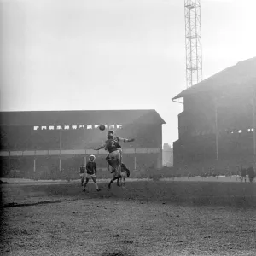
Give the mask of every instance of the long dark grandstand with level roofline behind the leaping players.
<svg viewBox="0 0 256 256">
<path fill-rule="evenodd" d="M 101 124 L 106 125 L 106 131 L 98 129 Z M 97 154 L 93 148 L 106 140 L 108 130 L 113 130 L 120 137 L 136 138 L 134 143 L 122 144 L 124 159 L 132 163 L 131 169 L 160 168 L 163 124 L 165 121 L 154 109 L 2 112 L 1 158 L 11 163 L 36 159 L 37 170 L 40 160 L 45 164 L 55 158 L 58 160 L 54 165 L 61 166 L 62 161 L 63 166 L 64 159 Z M 106 154 L 102 150 L 97 156 L 103 167 Z M 34 165 L 30 163 L 30 167 Z"/>
</svg>

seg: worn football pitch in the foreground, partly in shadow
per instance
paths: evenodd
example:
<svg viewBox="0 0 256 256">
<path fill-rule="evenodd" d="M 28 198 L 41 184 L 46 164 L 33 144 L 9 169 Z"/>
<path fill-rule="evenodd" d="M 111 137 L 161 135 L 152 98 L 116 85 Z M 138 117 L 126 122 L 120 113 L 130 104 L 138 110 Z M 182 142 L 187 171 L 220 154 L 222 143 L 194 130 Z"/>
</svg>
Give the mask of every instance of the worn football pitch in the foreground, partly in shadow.
<svg viewBox="0 0 256 256">
<path fill-rule="evenodd" d="M 255 255 L 256 184 L 2 184 L 1 255 Z"/>
</svg>

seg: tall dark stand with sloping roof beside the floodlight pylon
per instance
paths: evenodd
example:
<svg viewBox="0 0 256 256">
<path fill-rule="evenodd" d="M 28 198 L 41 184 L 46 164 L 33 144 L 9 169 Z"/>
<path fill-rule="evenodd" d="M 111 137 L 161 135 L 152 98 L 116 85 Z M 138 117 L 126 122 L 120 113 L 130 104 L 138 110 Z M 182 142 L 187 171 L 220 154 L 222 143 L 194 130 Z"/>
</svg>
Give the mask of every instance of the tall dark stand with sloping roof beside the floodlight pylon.
<svg viewBox="0 0 256 256">
<path fill-rule="evenodd" d="M 194 172 L 233 168 L 252 163 L 255 156 L 256 57 L 241 61 L 183 90 L 178 115 L 174 166 Z M 254 143 L 253 143 L 254 142 Z"/>
</svg>

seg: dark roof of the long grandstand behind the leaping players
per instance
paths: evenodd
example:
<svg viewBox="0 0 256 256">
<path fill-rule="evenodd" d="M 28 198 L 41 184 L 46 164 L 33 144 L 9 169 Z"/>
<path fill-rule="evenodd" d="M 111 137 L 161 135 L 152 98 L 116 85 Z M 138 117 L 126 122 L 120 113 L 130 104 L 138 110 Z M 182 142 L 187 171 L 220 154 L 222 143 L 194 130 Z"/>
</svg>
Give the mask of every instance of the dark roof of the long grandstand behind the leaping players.
<svg viewBox="0 0 256 256">
<path fill-rule="evenodd" d="M 74 111 L 25 111 L 1 112 L 0 125 L 99 125 L 141 122 L 165 124 L 154 109 L 147 110 L 74 110 Z M 148 117 L 148 118 L 147 118 Z"/>
</svg>

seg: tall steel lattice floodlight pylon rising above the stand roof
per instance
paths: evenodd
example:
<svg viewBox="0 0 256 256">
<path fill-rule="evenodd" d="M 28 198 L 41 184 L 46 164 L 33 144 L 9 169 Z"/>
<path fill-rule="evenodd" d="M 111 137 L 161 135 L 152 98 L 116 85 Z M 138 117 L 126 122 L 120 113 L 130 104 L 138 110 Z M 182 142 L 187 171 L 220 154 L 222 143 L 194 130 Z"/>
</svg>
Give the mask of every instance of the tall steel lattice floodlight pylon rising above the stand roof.
<svg viewBox="0 0 256 256">
<path fill-rule="evenodd" d="M 201 82 L 201 3 L 185 0 L 186 81 L 187 88 Z"/>
</svg>

